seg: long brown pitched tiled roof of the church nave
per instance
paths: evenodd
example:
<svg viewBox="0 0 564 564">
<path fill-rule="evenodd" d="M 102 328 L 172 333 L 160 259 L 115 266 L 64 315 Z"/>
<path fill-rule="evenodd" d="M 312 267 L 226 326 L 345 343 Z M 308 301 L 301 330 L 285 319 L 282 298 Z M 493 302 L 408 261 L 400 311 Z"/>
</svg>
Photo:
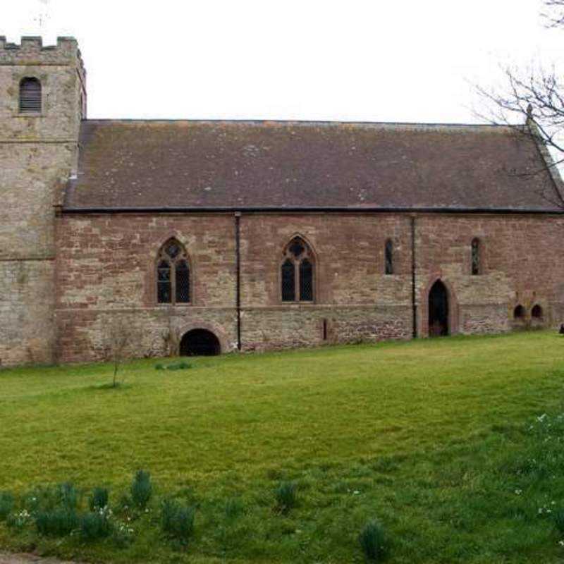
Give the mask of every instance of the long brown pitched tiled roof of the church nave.
<svg viewBox="0 0 564 564">
<path fill-rule="evenodd" d="M 92 120 L 64 207 L 556 209 L 544 168 L 494 125 Z"/>
</svg>

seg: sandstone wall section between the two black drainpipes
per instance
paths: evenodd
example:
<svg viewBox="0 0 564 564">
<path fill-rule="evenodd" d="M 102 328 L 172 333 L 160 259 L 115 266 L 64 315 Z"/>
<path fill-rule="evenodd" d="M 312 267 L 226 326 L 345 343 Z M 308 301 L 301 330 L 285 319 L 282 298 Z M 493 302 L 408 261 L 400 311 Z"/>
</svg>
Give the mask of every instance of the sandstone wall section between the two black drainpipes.
<svg viewBox="0 0 564 564">
<path fill-rule="evenodd" d="M 240 224 L 244 349 L 411 336 L 406 216 L 252 214 L 243 215 Z M 295 235 L 304 238 L 315 255 L 312 305 L 280 300 L 283 249 Z M 388 238 L 394 248 L 392 275 L 384 274 Z"/>
</svg>

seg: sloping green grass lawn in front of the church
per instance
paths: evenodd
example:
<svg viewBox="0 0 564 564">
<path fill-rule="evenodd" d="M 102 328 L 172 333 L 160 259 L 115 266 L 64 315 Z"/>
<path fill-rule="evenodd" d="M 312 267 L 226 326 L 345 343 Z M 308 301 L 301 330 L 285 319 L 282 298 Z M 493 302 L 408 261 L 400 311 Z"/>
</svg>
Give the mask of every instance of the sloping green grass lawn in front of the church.
<svg viewBox="0 0 564 564">
<path fill-rule="evenodd" d="M 131 541 L 41 537 L 0 522 L 0 546 L 132 562 L 362 562 L 377 519 L 390 563 L 561 562 L 564 339 L 556 332 L 264 355 L 0 372 L 0 491 L 110 489 Z M 540 417 L 542 414 L 547 414 Z M 135 470 L 154 496 L 119 508 Z M 298 505 L 276 510 L 281 481 Z M 161 500 L 195 507 L 187 549 Z M 235 509 L 233 509 L 235 508 Z M 121 512 L 121 513 L 120 513 Z M 125 512 L 125 513 L 124 513 Z"/>
</svg>

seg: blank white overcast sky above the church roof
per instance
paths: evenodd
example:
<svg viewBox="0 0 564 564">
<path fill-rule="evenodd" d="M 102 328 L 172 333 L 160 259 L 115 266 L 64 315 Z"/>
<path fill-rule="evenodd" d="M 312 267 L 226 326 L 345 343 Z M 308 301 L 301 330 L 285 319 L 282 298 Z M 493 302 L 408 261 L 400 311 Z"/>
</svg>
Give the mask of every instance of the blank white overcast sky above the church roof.
<svg viewBox="0 0 564 564">
<path fill-rule="evenodd" d="M 541 0 L 3 0 L 0 35 L 78 39 L 90 118 L 474 123 L 500 64 L 563 60 Z"/>
</svg>

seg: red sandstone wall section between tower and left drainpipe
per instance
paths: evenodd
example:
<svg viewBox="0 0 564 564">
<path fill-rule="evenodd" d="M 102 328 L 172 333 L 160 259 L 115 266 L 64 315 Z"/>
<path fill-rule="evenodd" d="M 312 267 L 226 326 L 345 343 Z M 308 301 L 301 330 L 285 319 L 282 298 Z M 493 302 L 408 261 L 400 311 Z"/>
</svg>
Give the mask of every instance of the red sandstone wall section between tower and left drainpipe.
<svg viewBox="0 0 564 564">
<path fill-rule="evenodd" d="M 131 354 L 166 354 L 169 333 L 210 329 L 236 346 L 233 215 L 63 215 L 57 228 L 56 320 L 61 362 L 99 360 L 116 319 L 135 333 Z M 190 305 L 157 303 L 157 255 L 168 238 L 190 257 Z"/>
</svg>

